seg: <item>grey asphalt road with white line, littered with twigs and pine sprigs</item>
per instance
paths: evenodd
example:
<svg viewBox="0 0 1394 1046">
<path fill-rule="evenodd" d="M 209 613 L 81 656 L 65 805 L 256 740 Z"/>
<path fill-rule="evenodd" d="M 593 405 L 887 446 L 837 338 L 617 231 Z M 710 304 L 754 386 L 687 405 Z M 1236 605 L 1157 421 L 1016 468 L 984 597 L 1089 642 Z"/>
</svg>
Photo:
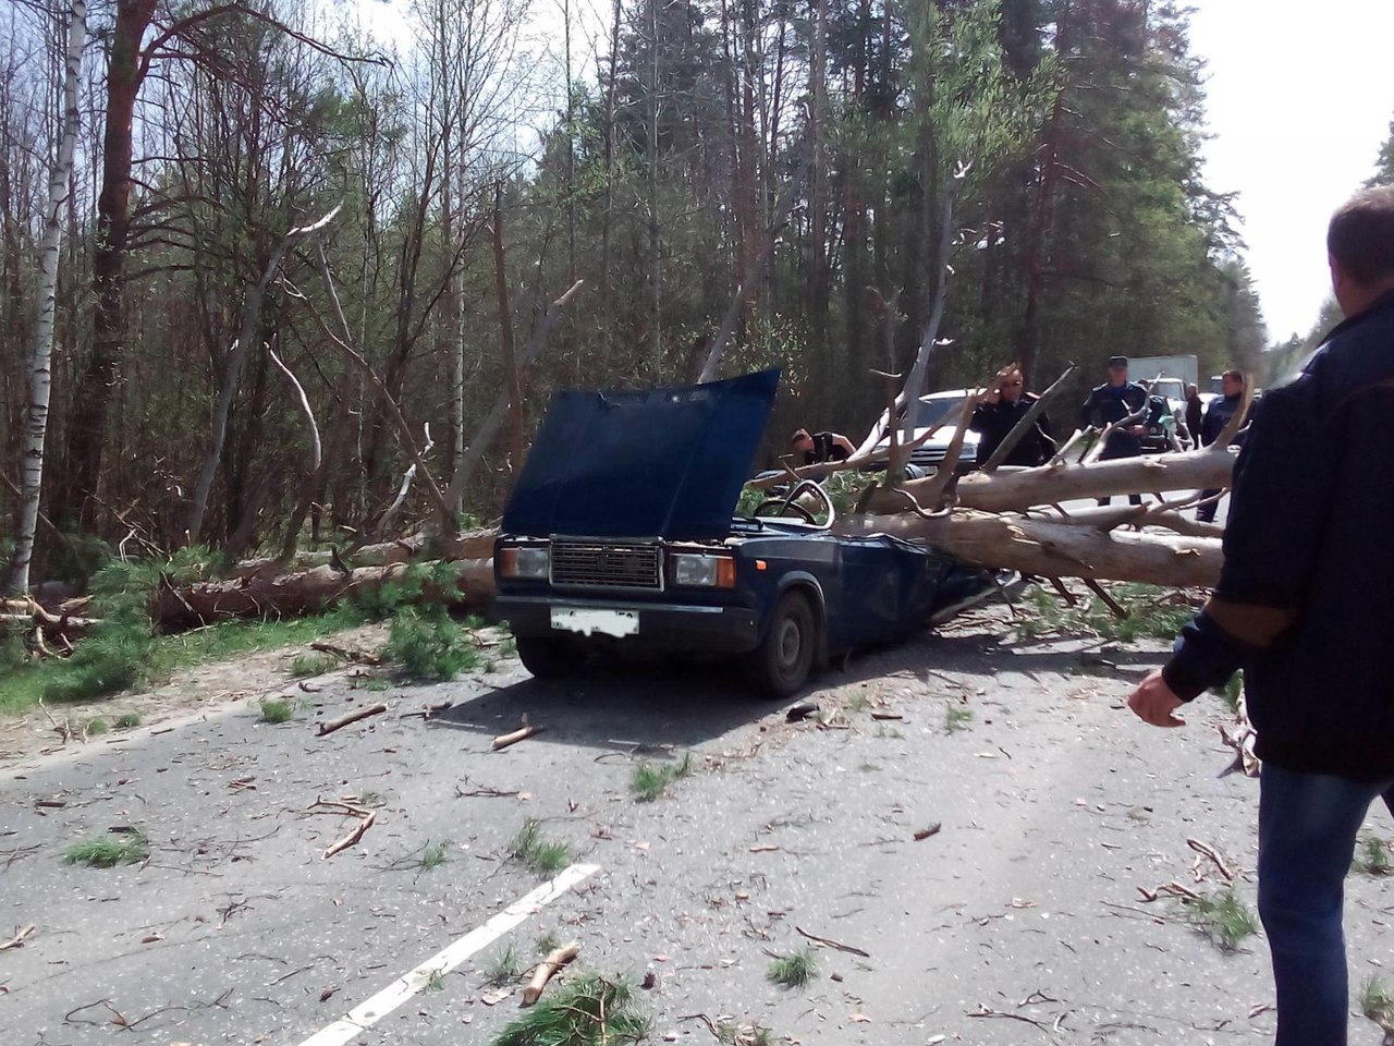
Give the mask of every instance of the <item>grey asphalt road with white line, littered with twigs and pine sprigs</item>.
<svg viewBox="0 0 1394 1046">
<path fill-rule="evenodd" d="M 1264 1042 L 1262 937 L 1223 953 L 1139 891 L 1225 886 L 1195 840 L 1253 902 L 1256 785 L 1218 775 L 1221 704 L 1144 728 L 1122 699 L 1160 646 L 1013 644 L 1004 615 L 850 658 L 802 697 L 822 722 L 707 667 L 562 686 L 505 661 L 386 693 L 330 679 L 289 724 L 238 702 L 6 771 L 0 937 L 35 930 L 0 951 L 0 1043 L 482 1045 L 519 1013 L 487 972 L 545 937 L 654 973 L 657 1042 L 722 1021 L 829 1046 Z M 541 732 L 492 752 L 524 714 Z M 638 763 L 684 753 L 691 775 L 634 799 Z M 325 859 L 357 817 L 315 803 L 346 796 L 375 823 Z M 569 845 L 563 881 L 507 858 L 527 819 Z M 64 863 L 124 827 L 148 862 Z M 1391 915 L 1354 876 L 1356 983 L 1394 964 Z M 820 946 L 806 989 L 776 987 L 799 930 L 867 954 Z M 1355 1046 L 1380 1040 L 1352 1020 Z"/>
</svg>

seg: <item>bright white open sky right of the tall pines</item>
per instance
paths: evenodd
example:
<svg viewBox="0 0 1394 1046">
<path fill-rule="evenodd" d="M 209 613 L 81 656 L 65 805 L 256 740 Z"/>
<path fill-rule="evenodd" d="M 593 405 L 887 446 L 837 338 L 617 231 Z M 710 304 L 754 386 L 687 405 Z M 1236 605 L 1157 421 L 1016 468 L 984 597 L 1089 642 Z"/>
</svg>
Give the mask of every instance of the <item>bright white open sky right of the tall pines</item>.
<svg viewBox="0 0 1394 1046">
<path fill-rule="evenodd" d="M 1326 223 L 1374 173 L 1394 120 L 1394 3 L 1192 0 L 1209 60 L 1206 184 L 1238 191 L 1269 342 L 1330 294 Z"/>
</svg>

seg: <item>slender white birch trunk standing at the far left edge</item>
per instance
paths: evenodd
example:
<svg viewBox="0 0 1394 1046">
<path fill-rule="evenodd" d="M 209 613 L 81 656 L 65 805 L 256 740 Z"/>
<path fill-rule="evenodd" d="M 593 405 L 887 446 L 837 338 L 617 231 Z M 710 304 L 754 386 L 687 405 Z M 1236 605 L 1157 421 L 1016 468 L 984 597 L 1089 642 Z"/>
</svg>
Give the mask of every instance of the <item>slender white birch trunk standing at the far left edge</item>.
<svg viewBox="0 0 1394 1046">
<path fill-rule="evenodd" d="M 59 247 L 63 241 L 63 208 L 72 183 L 72 151 L 78 138 L 78 77 L 86 43 L 86 0 L 68 7 L 68 50 L 63 74 L 63 120 L 59 155 L 49 173 L 49 201 L 43 212 L 43 243 L 39 251 L 39 317 L 33 332 L 33 363 L 29 379 L 28 432 L 21 467 L 24 498 L 20 505 L 20 534 L 10 589 L 29 589 L 33 534 L 39 524 L 39 495 L 43 488 L 43 446 L 49 434 L 49 399 L 53 384 L 53 321 L 59 283 Z"/>
</svg>

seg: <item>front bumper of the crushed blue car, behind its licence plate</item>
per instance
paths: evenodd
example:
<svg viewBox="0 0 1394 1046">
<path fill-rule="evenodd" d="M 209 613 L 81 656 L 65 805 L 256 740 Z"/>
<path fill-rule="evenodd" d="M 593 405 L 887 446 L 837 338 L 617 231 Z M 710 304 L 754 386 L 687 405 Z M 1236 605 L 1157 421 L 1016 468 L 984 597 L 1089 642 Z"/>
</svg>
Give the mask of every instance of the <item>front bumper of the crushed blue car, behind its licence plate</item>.
<svg viewBox="0 0 1394 1046">
<path fill-rule="evenodd" d="M 569 615 L 569 628 L 556 628 L 552 611 L 580 611 Z M 637 618 L 637 621 L 633 621 Z M 644 602 L 640 600 L 570 598 L 555 593 L 544 596 L 495 597 L 489 604 L 491 621 L 506 621 L 517 636 L 577 636 L 579 639 L 613 639 L 622 644 L 691 653 L 744 653 L 760 643 L 760 618 L 746 607 L 707 607 L 680 602 Z M 605 621 L 619 622 L 615 635 Z M 594 632 L 579 628 L 602 622 Z M 629 629 L 633 628 L 631 632 Z"/>
</svg>

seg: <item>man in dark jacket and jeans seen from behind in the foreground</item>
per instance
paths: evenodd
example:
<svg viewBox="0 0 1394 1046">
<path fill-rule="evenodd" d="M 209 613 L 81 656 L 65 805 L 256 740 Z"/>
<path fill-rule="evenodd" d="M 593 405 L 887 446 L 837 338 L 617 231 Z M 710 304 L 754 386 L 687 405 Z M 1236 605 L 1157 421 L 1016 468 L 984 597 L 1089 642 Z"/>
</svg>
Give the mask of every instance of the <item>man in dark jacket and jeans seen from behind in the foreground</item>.
<svg viewBox="0 0 1394 1046">
<path fill-rule="evenodd" d="M 1394 187 L 1342 205 L 1327 248 L 1347 319 L 1264 395 L 1235 466 L 1220 584 L 1129 699 L 1175 727 L 1182 702 L 1243 668 L 1277 1046 L 1344 1046 L 1342 884 L 1370 803 L 1394 812 Z"/>
</svg>

